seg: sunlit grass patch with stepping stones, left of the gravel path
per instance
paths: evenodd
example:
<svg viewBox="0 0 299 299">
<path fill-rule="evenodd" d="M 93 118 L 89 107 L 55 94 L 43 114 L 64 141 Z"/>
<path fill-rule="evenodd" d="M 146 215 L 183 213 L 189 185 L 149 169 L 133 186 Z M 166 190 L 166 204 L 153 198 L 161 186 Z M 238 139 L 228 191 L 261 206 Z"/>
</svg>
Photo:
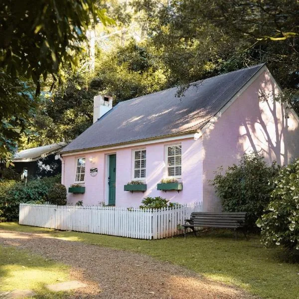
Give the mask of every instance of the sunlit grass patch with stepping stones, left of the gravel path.
<svg viewBox="0 0 299 299">
<path fill-rule="evenodd" d="M 66 298 L 69 293 L 52 293 L 45 286 L 67 281 L 69 268 L 14 247 L 0 246 L 0 298 L 1 292 L 32 290 L 35 298 Z"/>
</svg>

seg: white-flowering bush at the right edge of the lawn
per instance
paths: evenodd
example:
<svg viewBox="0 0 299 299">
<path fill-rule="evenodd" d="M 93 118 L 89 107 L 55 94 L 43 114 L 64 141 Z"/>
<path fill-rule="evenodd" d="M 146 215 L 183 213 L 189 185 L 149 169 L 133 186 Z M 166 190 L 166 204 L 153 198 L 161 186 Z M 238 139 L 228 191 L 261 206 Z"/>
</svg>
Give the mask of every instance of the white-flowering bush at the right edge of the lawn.
<svg viewBox="0 0 299 299">
<path fill-rule="evenodd" d="M 299 159 L 282 167 L 274 184 L 273 200 L 257 221 L 261 242 L 299 250 Z"/>
</svg>

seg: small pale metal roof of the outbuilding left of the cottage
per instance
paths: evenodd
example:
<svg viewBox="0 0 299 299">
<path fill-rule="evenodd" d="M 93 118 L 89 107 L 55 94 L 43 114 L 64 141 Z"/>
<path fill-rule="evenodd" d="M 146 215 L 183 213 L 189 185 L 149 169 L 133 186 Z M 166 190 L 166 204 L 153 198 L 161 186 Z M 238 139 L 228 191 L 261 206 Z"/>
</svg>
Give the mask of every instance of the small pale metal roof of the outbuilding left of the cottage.
<svg viewBox="0 0 299 299">
<path fill-rule="evenodd" d="M 55 153 L 65 147 L 66 142 L 60 142 L 52 145 L 42 146 L 32 149 L 24 149 L 14 154 L 14 162 L 29 162 L 36 161 L 42 157 L 46 157 L 49 154 Z"/>
</svg>

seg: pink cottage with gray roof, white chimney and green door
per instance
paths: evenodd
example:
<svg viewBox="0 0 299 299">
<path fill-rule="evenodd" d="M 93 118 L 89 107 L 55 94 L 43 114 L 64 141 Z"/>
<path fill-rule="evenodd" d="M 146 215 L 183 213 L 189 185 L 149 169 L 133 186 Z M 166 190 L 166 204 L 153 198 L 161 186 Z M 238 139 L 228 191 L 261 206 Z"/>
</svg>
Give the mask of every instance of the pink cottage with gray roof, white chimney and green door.
<svg viewBox="0 0 299 299">
<path fill-rule="evenodd" d="M 209 183 L 219 166 L 253 150 L 279 164 L 299 156 L 298 117 L 272 100 L 280 91 L 260 64 L 192 83 L 179 98 L 170 88 L 112 108 L 112 98 L 96 96 L 94 124 L 61 151 L 68 202 L 137 207 L 162 196 L 221 209 Z"/>
</svg>

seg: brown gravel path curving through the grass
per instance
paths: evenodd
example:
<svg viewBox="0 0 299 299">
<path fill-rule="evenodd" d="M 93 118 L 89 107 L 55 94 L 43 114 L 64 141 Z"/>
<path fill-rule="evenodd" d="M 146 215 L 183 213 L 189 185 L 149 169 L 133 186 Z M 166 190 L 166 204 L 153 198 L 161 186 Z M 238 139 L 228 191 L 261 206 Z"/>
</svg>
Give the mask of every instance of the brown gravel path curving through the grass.
<svg viewBox="0 0 299 299">
<path fill-rule="evenodd" d="M 72 266 L 72 279 L 88 285 L 71 298 L 99 299 L 253 299 L 244 291 L 204 279 L 183 267 L 153 258 L 42 234 L 0 230 L 0 245 Z M 171 254 L 171 253 L 169 253 Z"/>
</svg>

